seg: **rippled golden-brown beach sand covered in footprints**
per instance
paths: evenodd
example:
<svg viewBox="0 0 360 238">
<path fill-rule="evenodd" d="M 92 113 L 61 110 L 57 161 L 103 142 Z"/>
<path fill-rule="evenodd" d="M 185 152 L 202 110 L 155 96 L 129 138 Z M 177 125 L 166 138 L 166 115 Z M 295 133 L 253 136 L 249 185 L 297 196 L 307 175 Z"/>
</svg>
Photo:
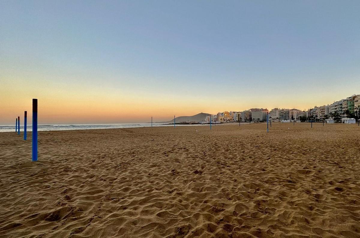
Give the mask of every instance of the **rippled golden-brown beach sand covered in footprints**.
<svg viewBox="0 0 360 238">
<path fill-rule="evenodd" d="M 360 237 L 360 128 L 272 125 L 0 133 L 0 237 Z"/>
</svg>

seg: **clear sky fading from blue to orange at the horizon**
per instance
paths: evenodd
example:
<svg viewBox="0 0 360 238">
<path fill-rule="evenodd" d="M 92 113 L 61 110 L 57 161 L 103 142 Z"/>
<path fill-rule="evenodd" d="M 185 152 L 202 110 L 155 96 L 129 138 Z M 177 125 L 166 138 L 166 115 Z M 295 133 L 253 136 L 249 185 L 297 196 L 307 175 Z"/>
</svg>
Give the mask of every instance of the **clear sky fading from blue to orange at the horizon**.
<svg viewBox="0 0 360 238">
<path fill-rule="evenodd" d="M 130 123 L 360 94 L 360 1 L 0 0 L 0 124 Z M 30 120 L 31 121 L 31 120 Z"/>
</svg>

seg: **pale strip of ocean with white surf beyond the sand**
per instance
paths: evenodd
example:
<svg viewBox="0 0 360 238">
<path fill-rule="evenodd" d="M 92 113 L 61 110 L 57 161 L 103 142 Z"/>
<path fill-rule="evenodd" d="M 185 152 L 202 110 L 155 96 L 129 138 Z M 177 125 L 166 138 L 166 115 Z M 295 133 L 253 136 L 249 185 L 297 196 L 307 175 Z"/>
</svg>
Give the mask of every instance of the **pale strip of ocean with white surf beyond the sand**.
<svg viewBox="0 0 360 238">
<path fill-rule="evenodd" d="M 197 124 L 200 126 L 200 124 Z M 153 127 L 173 127 L 174 125 L 164 125 L 153 123 Z M 188 126 L 188 125 L 176 125 Z M 119 123 L 119 124 L 38 124 L 37 131 L 64 131 L 64 130 L 87 130 L 87 129 L 114 129 L 114 128 L 134 128 L 151 127 L 151 123 Z M 32 131 L 31 123 L 27 125 L 27 131 Z M 20 125 L 20 132 L 24 131 L 24 125 Z M 15 132 L 15 125 L 0 124 L 0 132 Z"/>
</svg>

